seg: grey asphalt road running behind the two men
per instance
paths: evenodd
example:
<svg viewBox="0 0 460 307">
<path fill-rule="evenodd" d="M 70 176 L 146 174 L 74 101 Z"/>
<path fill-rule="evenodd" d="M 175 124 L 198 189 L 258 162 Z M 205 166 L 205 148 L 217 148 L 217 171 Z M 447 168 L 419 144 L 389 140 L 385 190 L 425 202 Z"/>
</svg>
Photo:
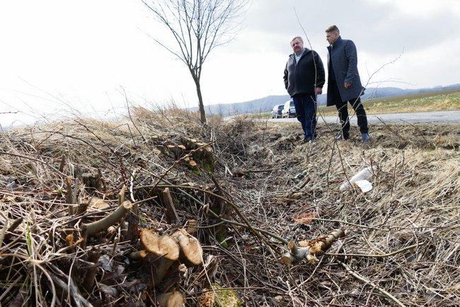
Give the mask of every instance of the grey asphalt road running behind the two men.
<svg viewBox="0 0 460 307">
<path fill-rule="evenodd" d="M 297 118 L 270 119 L 270 122 L 297 122 Z M 319 117 L 318 123 L 338 123 L 338 116 Z M 460 111 L 433 111 L 415 113 L 367 114 L 369 124 L 460 124 Z M 350 124 L 357 125 L 356 116 Z"/>
</svg>

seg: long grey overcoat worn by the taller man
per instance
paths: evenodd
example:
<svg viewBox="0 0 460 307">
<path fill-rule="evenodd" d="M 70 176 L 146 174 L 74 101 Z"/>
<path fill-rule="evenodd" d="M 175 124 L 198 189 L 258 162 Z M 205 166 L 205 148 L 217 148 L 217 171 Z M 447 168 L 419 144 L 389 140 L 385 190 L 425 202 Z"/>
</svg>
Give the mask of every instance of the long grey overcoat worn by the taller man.
<svg viewBox="0 0 460 307">
<path fill-rule="evenodd" d="M 364 94 L 364 88 L 362 87 L 357 67 L 357 50 L 352 40 L 343 40 L 342 37 L 339 36 L 333 45 L 328 47 L 328 69 L 330 61 L 332 61 L 335 80 L 337 81 L 337 87 L 342 101 L 352 100 Z M 329 82 L 330 78 L 328 79 L 328 83 Z M 345 88 L 345 82 L 352 84 L 350 88 Z M 328 95 L 327 104 L 335 105 L 332 95 Z"/>
</svg>

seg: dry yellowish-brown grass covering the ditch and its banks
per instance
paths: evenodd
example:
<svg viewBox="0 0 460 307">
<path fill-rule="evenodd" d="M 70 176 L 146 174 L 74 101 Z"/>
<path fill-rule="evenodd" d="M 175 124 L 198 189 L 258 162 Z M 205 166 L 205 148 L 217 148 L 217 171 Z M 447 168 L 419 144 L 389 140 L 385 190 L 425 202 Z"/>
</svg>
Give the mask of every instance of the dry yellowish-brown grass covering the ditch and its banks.
<svg viewBox="0 0 460 307">
<path fill-rule="evenodd" d="M 156 183 L 171 187 L 183 224 L 200 226 L 194 235 L 206 264 L 174 286 L 188 306 L 209 296 L 212 284 L 236 289 L 246 306 L 460 304 L 460 127 L 374 126 L 362 144 L 353 136 L 334 142 L 337 127 L 322 124 L 313 144 L 299 144 L 298 124 L 238 117 L 202 125 L 194 114 L 172 114 L 137 108 L 124 122 L 77 119 L 0 134 L 1 306 L 153 304 L 159 289 L 149 284 L 149 267 L 127 257 L 141 247 L 121 241 L 120 228 L 76 247 L 66 236 L 76 241 L 84 221 L 113 211 L 123 185 L 139 204 L 142 227 L 173 231 L 154 198 Z M 183 137 L 213 142 L 214 178 L 155 150 Z M 338 190 L 366 166 L 376 167 L 370 192 Z M 67 176 L 97 170 L 104 185 L 96 195 L 112 209 L 69 215 Z M 237 212 L 219 224 L 207 210 L 219 203 L 215 195 L 235 204 L 265 241 Z M 296 223 L 299 214 L 314 218 Z M 286 241 L 333 228 L 346 236 L 315 265 L 277 262 Z M 85 287 L 95 264 L 94 284 Z"/>
</svg>

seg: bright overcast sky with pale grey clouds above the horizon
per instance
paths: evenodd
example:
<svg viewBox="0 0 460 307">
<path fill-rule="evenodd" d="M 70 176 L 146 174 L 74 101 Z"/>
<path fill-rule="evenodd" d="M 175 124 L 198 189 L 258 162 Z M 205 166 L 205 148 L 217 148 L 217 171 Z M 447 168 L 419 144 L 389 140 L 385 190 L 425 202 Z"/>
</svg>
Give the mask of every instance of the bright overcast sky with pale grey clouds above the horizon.
<svg viewBox="0 0 460 307">
<path fill-rule="evenodd" d="M 459 16 L 457 0 L 252 0 L 239 35 L 203 66 L 205 105 L 285 95 L 289 41 L 308 37 L 326 65 L 332 24 L 357 45 L 367 87 L 460 83 Z M 1 1 L 0 29 L 2 127 L 113 117 L 124 93 L 137 105 L 197 106 L 188 69 L 152 40 L 168 33 L 140 0 Z"/>
</svg>

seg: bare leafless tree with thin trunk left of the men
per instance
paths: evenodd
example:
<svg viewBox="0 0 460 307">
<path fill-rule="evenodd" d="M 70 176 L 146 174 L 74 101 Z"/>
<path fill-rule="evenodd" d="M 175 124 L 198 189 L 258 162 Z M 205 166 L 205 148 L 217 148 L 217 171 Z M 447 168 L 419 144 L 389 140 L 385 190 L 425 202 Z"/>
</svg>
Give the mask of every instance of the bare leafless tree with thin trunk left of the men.
<svg viewBox="0 0 460 307">
<path fill-rule="evenodd" d="M 154 38 L 187 65 L 197 88 L 201 122 L 206 122 L 200 78 L 209 52 L 234 38 L 249 0 L 141 0 L 168 28 L 176 48 Z"/>
</svg>

